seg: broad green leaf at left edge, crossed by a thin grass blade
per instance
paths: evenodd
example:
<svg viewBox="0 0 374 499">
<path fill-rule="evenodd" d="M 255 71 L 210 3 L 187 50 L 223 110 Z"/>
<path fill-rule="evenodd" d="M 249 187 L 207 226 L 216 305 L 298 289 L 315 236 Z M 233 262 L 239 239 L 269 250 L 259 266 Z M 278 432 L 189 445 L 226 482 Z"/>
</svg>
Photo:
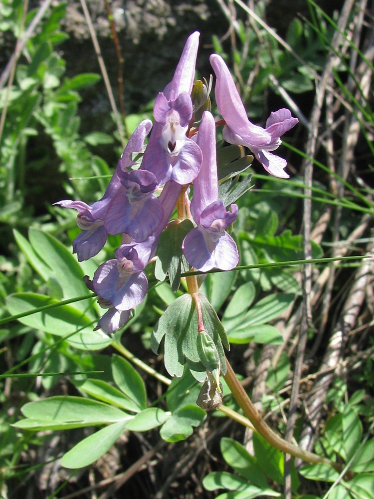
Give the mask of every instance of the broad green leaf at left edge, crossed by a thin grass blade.
<svg viewBox="0 0 374 499">
<path fill-rule="evenodd" d="M 58 301 L 36 293 L 12 294 L 6 299 L 6 306 L 14 315 L 54 303 Z M 26 315 L 18 320 L 22 324 L 46 333 L 57 336 L 71 335 L 67 341 L 81 350 L 99 350 L 112 342 L 111 338 L 104 333 L 93 331 L 92 319 L 73 305 L 61 305 Z"/>
</svg>

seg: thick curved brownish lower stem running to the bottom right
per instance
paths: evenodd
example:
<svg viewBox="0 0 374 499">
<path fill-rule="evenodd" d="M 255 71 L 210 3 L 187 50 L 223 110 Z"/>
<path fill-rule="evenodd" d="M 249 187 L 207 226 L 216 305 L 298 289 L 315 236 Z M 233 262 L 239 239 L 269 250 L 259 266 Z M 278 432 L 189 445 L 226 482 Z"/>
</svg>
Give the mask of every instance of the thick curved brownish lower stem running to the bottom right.
<svg viewBox="0 0 374 499">
<path fill-rule="evenodd" d="M 259 435 L 261 435 L 261 437 L 263 437 L 266 440 L 266 442 L 268 442 L 271 446 L 275 447 L 279 451 L 282 451 L 286 454 L 290 454 L 295 458 L 300 458 L 303 461 L 306 461 L 307 463 L 311 464 L 324 463 L 332 466 L 335 470 L 339 472 L 342 471 L 343 466 L 341 464 L 333 463 L 327 458 L 323 458 L 321 456 L 318 456 L 317 454 L 313 454 L 312 452 L 304 451 L 303 449 L 296 447 L 290 442 L 286 442 L 281 437 L 279 437 L 279 435 L 273 432 L 273 430 L 269 428 L 268 425 L 265 423 L 265 421 L 261 418 L 255 406 L 252 404 L 244 388 L 241 386 L 238 379 L 236 378 L 235 373 L 227 359 L 226 359 L 226 366 L 227 366 L 227 371 L 226 374 L 223 376 L 223 378 L 226 381 L 227 386 L 229 387 L 236 402 L 243 410 L 245 416 L 252 423 L 256 432 Z"/>
</svg>

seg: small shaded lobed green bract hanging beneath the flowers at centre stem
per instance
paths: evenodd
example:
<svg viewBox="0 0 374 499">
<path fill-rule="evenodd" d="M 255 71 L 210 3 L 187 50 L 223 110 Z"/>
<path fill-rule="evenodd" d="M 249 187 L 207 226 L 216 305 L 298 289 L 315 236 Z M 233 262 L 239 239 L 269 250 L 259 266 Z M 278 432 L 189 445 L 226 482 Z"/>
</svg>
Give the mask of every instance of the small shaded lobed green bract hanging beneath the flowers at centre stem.
<svg viewBox="0 0 374 499">
<path fill-rule="evenodd" d="M 169 273 L 174 292 L 179 288 L 181 273 L 187 272 L 189 268 L 182 251 L 182 243 L 191 229 L 193 229 L 192 222 L 184 220 L 180 224 L 171 225 L 160 236 L 155 277 L 163 281 Z"/>
</svg>

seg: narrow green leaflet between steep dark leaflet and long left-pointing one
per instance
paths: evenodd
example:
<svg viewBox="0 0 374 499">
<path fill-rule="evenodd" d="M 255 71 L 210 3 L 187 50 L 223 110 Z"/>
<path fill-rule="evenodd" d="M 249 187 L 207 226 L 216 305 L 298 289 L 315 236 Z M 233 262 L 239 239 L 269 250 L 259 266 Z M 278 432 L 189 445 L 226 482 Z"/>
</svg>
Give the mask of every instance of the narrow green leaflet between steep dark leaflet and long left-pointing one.
<svg viewBox="0 0 374 499">
<path fill-rule="evenodd" d="M 86 379 L 73 383 L 82 392 L 106 404 L 120 407 L 126 411 L 139 412 L 141 410 L 138 404 L 126 397 L 118 388 L 101 379 Z"/>
</svg>

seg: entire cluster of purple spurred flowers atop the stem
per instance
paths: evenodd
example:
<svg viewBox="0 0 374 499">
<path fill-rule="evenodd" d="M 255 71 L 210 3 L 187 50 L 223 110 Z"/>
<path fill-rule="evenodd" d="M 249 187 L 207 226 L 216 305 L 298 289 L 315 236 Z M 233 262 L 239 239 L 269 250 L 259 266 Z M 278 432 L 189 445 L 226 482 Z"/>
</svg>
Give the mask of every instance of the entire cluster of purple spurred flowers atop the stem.
<svg viewBox="0 0 374 499">
<path fill-rule="evenodd" d="M 173 80 L 156 98 L 154 124 L 142 121 L 130 137 L 103 198 L 92 205 L 71 200 L 55 203 L 78 212 L 77 224 L 83 232 L 73 241 L 73 251 L 79 261 L 96 255 L 108 234 L 122 235 L 115 258 L 102 263 L 92 280 L 85 278 L 99 304 L 108 309 L 97 326 L 108 334 L 123 326 L 146 296 L 145 267 L 156 254 L 160 235 L 186 191 L 184 186 L 193 186 L 187 213 L 194 228 L 182 245 L 187 262 L 202 272 L 230 270 L 238 263 L 236 244 L 227 232 L 238 207 L 232 204 L 227 209 L 218 199 L 216 123 L 210 111 L 205 110 L 198 127 L 192 129 L 198 39 L 198 32 L 188 37 Z M 286 161 L 269 151 L 277 149 L 280 136 L 298 120 L 288 109 L 280 109 L 271 113 L 265 129 L 253 125 L 223 59 L 213 54 L 210 62 L 216 75 L 215 99 L 225 123 L 224 139 L 247 146 L 270 174 L 287 178 Z M 136 168 L 133 158 L 143 151 L 149 134 Z"/>
</svg>

